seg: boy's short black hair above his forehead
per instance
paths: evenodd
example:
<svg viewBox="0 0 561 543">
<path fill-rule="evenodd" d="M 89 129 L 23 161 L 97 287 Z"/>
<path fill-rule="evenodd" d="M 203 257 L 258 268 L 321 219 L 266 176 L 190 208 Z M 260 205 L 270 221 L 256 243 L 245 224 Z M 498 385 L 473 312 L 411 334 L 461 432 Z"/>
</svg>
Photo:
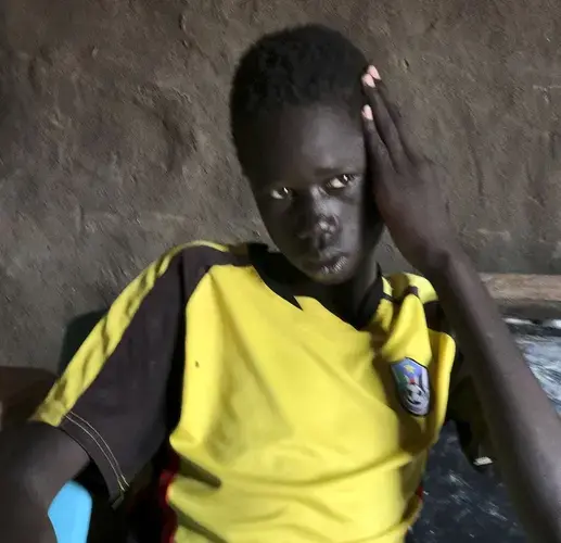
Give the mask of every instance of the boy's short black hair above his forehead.
<svg viewBox="0 0 561 543">
<path fill-rule="evenodd" d="M 257 40 L 242 56 L 230 93 L 230 128 L 286 105 L 333 105 L 358 115 L 364 53 L 341 33 L 318 24 L 286 28 Z"/>
</svg>

